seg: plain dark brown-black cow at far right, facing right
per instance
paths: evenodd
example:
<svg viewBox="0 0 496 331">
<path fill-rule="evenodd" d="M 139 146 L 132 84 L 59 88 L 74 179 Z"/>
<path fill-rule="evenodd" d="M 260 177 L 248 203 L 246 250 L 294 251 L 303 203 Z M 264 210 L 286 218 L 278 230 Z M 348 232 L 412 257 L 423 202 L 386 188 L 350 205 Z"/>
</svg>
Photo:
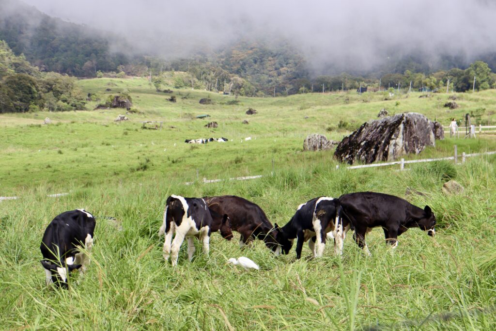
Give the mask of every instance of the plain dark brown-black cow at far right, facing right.
<svg viewBox="0 0 496 331">
<path fill-rule="evenodd" d="M 431 207 L 424 209 L 410 202 L 387 194 L 359 192 L 339 198 L 340 221 L 349 221 L 355 229 L 354 238 L 358 246 L 371 255 L 365 243 L 365 234 L 373 227 L 381 226 L 386 243 L 393 248 L 398 246 L 397 238 L 409 228 L 419 227 L 434 236 L 436 223 Z"/>
</svg>

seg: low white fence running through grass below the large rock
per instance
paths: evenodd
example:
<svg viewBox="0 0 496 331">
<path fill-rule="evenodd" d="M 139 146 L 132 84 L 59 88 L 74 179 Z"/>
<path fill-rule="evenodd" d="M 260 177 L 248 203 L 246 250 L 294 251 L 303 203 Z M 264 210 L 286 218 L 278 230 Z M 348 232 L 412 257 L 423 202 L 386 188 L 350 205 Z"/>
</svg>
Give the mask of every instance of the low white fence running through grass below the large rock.
<svg viewBox="0 0 496 331">
<path fill-rule="evenodd" d="M 405 170 L 405 164 L 409 164 L 409 163 L 434 162 L 434 161 L 442 161 L 442 160 L 454 160 L 455 163 L 458 163 L 458 155 L 457 155 L 456 145 L 454 147 L 455 148 L 454 148 L 454 155 L 453 156 L 438 157 L 438 158 L 434 158 L 434 159 L 406 160 L 406 161 L 404 158 L 402 158 L 400 161 L 363 164 L 363 165 L 358 165 L 358 166 L 348 166 L 348 167 L 345 167 L 345 169 L 352 170 L 352 169 L 385 167 L 385 166 L 399 164 L 400 170 Z M 463 152 L 461 155 L 461 160 L 462 160 L 462 163 L 465 163 L 465 160 L 467 157 L 481 156 L 481 155 L 493 155 L 493 154 L 496 154 L 496 151 L 483 152 L 483 153 L 471 153 L 471 154 L 465 154 L 465 152 Z M 339 165 L 336 165 L 336 169 L 339 169 Z M 262 177 L 263 177 L 263 175 L 233 177 L 233 178 L 229 178 L 229 179 L 206 179 L 206 178 L 203 178 L 203 183 L 205 183 L 205 184 L 206 183 L 218 183 L 218 182 L 222 182 L 222 181 L 226 181 L 226 180 L 227 181 L 245 181 L 248 179 L 256 179 L 256 178 L 262 178 Z M 191 185 L 193 183 L 194 182 L 186 182 L 185 185 Z M 47 197 L 56 198 L 56 197 L 63 197 L 66 195 L 68 195 L 68 193 L 47 194 Z M 19 199 L 19 197 L 0 197 L 0 202 L 3 200 L 15 200 L 15 199 Z"/>
</svg>

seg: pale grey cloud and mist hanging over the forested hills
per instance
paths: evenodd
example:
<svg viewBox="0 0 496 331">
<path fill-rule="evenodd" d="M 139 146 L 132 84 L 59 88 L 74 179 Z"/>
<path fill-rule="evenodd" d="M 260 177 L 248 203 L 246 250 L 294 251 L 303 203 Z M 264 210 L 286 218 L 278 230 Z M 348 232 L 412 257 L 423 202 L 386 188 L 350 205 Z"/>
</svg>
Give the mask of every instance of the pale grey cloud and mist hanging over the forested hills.
<svg viewBox="0 0 496 331">
<path fill-rule="evenodd" d="M 24 0 L 49 15 L 129 37 L 165 56 L 239 37 L 283 36 L 315 66 L 367 69 L 395 54 L 496 51 L 492 0 Z"/>
</svg>

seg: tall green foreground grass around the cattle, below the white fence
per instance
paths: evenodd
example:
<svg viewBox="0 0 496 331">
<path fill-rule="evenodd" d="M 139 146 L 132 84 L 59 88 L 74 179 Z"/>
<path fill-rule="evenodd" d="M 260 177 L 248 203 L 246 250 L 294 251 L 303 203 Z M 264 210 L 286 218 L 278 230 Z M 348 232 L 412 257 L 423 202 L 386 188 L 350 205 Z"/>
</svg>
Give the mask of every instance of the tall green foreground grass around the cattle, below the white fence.
<svg viewBox="0 0 496 331">
<path fill-rule="evenodd" d="M 0 325 L 2 329 L 169 330 L 492 330 L 495 328 L 493 248 L 496 188 L 490 158 L 464 165 L 419 164 L 394 169 L 335 170 L 291 165 L 244 182 L 195 183 L 129 180 L 122 185 L 72 188 L 60 198 L 46 187 L 0 203 Z M 441 193 L 449 178 L 459 196 Z M 405 196 L 407 188 L 424 195 Z M 192 263 L 183 247 L 176 268 L 162 258 L 157 235 L 165 199 L 236 194 L 258 203 L 272 222 L 285 224 L 297 205 L 319 195 L 379 191 L 429 204 L 438 219 L 434 238 L 410 229 L 391 252 L 382 231 L 367 238 L 372 257 L 345 241 L 343 259 L 274 257 L 263 243 L 248 250 L 214 233 L 210 256 L 201 245 Z M 97 219 L 92 263 L 75 272 L 68 291 L 45 286 L 39 245 L 45 226 L 63 210 L 84 207 Z M 260 265 L 227 265 L 247 256 Z"/>
</svg>

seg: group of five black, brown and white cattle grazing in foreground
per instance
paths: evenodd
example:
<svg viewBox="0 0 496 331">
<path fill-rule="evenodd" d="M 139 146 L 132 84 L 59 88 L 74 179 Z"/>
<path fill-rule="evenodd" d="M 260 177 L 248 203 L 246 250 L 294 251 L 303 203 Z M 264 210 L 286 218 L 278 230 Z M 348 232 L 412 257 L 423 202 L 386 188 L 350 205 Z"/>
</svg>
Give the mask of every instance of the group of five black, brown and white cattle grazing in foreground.
<svg viewBox="0 0 496 331">
<path fill-rule="evenodd" d="M 404 199 L 373 192 L 346 194 L 339 199 L 311 199 L 300 204 L 283 227 L 277 223 L 272 226 L 262 208 L 241 197 L 171 195 L 166 202 L 159 235 L 165 235 L 165 261 L 171 258 L 172 265 L 177 265 L 185 238 L 191 261 L 195 250 L 193 237 L 202 242 L 203 253 L 208 254 L 210 234 L 217 231 L 227 240 L 233 238 L 233 230 L 239 232 L 240 247 L 249 245 L 253 239 L 263 240 L 275 255 L 288 254 L 297 239 L 296 255 L 300 259 L 306 241 L 315 258 L 322 256 L 327 239 L 334 239 L 334 253 L 341 255 L 350 229 L 355 231 L 356 243 L 370 255 L 365 235 L 373 227 L 382 227 L 386 243 L 395 248 L 397 237 L 409 228 L 419 227 L 434 236 L 435 224 L 429 206 L 422 209 Z M 95 225 L 95 217 L 84 209 L 63 212 L 52 220 L 40 247 L 47 284 L 66 288 L 68 271 L 86 268 Z"/>
</svg>

